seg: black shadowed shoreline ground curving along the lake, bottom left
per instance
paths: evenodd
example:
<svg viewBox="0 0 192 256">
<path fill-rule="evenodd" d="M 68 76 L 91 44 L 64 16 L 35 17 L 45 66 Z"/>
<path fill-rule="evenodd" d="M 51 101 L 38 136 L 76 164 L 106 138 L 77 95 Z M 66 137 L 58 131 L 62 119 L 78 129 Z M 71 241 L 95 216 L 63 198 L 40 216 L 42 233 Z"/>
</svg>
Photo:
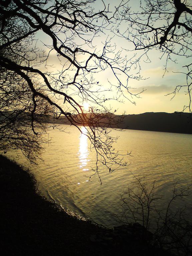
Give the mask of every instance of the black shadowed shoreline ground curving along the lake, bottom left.
<svg viewBox="0 0 192 256">
<path fill-rule="evenodd" d="M 141 226 L 104 229 L 38 194 L 29 172 L 0 155 L 1 255 L 169 255 Z"/>
</svg>

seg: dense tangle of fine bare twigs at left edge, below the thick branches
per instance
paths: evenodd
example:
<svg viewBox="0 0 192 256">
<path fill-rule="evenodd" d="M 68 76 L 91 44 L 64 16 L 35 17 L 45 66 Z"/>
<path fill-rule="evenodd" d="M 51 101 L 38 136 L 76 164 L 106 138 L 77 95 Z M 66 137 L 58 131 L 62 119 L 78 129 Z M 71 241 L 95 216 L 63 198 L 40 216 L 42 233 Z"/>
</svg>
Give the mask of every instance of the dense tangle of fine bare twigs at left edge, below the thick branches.
<svg viewBox="0 0 192 256">
<path fill-rule="evenodd" d="M 21 149 L 31 163 L 40 155 L 45 139 L 37 131 L 45 131 L 41 115 L 49 106 L 41 98 L 36 99 L 38 115 L 31 115 L 32 92 L 28 84 L 14 71 L 1 68 L 0 80 L 0 150 Z M 32 125 L 33 124 L 33 125 Z"/>
</svg>

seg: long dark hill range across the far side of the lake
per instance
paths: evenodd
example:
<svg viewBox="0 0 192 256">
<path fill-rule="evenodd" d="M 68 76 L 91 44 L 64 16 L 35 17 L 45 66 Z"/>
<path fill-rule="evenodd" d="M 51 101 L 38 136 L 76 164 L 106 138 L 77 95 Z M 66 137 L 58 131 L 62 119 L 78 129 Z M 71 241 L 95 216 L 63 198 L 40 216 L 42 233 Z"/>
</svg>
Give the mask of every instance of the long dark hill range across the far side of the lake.
<svg viewBox="0 0 192 256">
<path fill-rule="evenodd" d="M 5 116 L 14 119 L 17 113 L 12 113 L 11 111 L 3 112 L 3 114 L 0 115 L 0 122 L 3 122 Z M 18 117 L 30 120 L 30 113 L 24 112 L 19 114 Z M 49 115 L 36 114 L 35 117 L 37 120 L 44 123 L 71 124 L 65 116 L 54 118 Z M 100 127 L 192 134 L 192 114 L 189 113 L 150 112 L 124 116 L 112 113 L 87 113 L 71 115 L 71 117 L 75 120 L 76 125 L 82 125 L 82 123 L 88 125 L 89 122 L 92 126 Z"/>
</svg>

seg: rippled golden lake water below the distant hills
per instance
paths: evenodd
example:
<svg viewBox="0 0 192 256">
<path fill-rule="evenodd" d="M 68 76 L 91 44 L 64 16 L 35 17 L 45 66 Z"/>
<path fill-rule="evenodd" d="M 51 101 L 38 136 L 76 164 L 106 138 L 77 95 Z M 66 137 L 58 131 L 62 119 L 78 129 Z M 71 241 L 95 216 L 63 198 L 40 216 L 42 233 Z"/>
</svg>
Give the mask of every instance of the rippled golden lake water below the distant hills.
<svg viewBox="0 0 192 256">
<path fill-rule="evenodd" d="M 126 160 L 129 166 L 109 173 L 101 171 L 102 185 L 92 174 L 94 152 L 89 142 L 75 127 L 63 125 L 69 133 L 50 131 L 52 143 L 43 152 L 44 163 L 32 168 L 42 194 L 55 200 L 63 208 L 101 225 L 120 224 L 115 215 L 122 215 L 123 188 L 134 180 L 133 175 L 145 176 L 147 186 L 156 181 L 155 192 L 169 198 L 173 184 L 184 186 L 192 182 L 192 135 L 151 131 L 112 131 L 119 136 L 115 147 L 121 153 L 131 151 Z M 27 166 L 25 159 L 19 163 Z M 174 207 L 187 204 L 192 207 L 192 196 L 185 202 L 174 202 Z"/>
</svg>

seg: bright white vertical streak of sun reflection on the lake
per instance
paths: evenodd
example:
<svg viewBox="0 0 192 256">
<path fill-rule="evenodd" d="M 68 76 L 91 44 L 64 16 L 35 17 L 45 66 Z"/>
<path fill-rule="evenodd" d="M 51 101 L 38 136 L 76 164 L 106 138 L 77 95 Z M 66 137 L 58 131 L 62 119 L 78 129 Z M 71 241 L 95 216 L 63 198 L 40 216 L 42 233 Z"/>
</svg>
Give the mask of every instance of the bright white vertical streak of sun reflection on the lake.
<svg viewBox="0 0 192 256">
<path fill-rule="evenodd" d="M 81 136 L 79 141 L 79 168 L 83 171 L 88 171 L 89 168 L 87 168 L 87 162 L 89 162 L 88 155 L 88 142 L 87 142 L 87 129 L 82 126 L 81 127 Z"/>
</svg>

